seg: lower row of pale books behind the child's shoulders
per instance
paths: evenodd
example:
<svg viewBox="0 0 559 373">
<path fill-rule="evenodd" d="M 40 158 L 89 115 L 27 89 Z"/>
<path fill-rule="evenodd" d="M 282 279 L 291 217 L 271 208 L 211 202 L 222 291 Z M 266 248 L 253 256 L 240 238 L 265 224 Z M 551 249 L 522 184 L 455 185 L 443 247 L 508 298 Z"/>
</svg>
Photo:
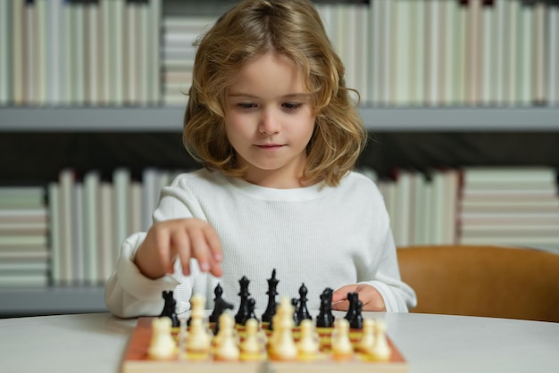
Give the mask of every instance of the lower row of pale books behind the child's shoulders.
<svg viewBox="0 0 559 373">
<path fill-rule="evenodd" d="M 397 246 L 507 245 L 559 253 L 552 168 L 397 170 L 376 182 Z M 62 170 L 48 186 L 0 187 L 0 286 L 98 286 L 122 241 L 146 231 L 161 189 L 179 171 L 127 169 L 111 180 Z"/>
</svg>

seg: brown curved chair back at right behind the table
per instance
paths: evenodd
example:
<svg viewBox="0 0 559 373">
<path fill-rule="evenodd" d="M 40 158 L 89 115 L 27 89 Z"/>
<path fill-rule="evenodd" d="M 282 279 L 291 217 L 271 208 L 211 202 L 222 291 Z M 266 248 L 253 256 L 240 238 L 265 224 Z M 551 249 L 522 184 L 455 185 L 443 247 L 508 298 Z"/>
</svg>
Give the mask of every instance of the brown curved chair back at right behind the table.
<svg viewBox="0 0 559 373">
<path fill-rule="evenodd" d="M 397 249 L 420 313 L 559 322 L 559 255 L 497 246 Z"/>
</svg>

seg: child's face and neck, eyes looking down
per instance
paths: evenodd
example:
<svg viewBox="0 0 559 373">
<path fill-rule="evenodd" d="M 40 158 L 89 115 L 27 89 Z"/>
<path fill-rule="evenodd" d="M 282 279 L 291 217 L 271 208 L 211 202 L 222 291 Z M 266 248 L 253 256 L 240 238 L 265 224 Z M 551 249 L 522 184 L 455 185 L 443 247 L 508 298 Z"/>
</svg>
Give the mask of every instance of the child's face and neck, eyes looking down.
<svg viewBox="0 0 559 373">
<path fill-rule="evenodd" d="M 313 96 L 282 54 L 247 62 L 225 99 L 225 128 L 246 166 L 246 180 L 264 187 L 301 187 L 314 129 Z"/>
</svg>

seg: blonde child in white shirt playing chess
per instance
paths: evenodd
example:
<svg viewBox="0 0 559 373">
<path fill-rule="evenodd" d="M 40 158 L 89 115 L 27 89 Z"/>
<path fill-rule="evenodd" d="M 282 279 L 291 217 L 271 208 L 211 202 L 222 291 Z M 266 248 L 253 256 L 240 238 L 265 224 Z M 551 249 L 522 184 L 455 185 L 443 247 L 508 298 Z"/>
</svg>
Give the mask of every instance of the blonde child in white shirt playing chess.
<svg viewBox="0 0 559 373">
<path fill-rule="evenodd" d="M 204 169 L 162 191 L 154 225 L 130 236 L 105 302 L 120 317 L 157 315 L 163 290 L 178 312 L 213 289 L 238 307 L 250 280 L 267 305 L 276 269 L 280 296 L 308 289 L 309 309 L 336 289 L 335 310 L 358 292 L 363 311 L 405 312 L 388 214 L 370 179 L 352 172 L 366 131 L 344 67 L 308 0 L 245 0 L 198 44 L 183 140 Z"/>
</svg>

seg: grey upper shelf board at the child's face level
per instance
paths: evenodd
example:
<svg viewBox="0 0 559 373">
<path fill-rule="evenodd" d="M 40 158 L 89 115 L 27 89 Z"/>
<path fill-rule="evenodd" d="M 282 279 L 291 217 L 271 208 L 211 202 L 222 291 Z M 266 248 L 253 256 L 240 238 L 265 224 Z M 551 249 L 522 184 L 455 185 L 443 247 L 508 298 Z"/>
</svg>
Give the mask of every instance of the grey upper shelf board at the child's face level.
<svg viewBox="0 0 559 373">
<path fill-rule="evenodd" d="M 0 132 L 181 132 L 183 107 L 0 108 Z M 556 131 L 559 107 L 363 107 L 371 131 Z"/>
</svg>

